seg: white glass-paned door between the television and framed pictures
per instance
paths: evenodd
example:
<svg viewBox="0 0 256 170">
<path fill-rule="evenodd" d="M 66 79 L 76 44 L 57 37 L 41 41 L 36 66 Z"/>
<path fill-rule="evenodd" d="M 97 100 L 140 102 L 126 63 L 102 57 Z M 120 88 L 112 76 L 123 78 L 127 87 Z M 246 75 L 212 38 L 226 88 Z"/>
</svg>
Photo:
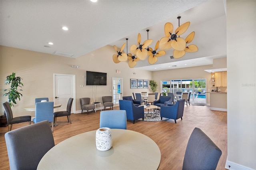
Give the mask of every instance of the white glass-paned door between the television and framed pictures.
<svg viewBox="0 0 256 170">
<path fill-rule="evenodd" d="M 112 94 L 113 94 L 113 103 L 118 104 L 119 100 L 122 99 L 123 94 L 123 79 L 122 78 L 112 78 Z"/>
</svg>

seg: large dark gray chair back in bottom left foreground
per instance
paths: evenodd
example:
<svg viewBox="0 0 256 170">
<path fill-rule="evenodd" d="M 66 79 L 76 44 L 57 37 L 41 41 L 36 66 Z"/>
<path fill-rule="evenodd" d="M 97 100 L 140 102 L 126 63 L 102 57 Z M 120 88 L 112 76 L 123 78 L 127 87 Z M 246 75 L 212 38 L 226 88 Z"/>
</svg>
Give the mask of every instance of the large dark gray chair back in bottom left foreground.
<svg viewBox="0 0 256 170">
<path fill-rule="evenodd" d="M 48 121 L 21 127 L 4 134 L 11 170 L 36 170 L 54 144 Z"/>
</svg>

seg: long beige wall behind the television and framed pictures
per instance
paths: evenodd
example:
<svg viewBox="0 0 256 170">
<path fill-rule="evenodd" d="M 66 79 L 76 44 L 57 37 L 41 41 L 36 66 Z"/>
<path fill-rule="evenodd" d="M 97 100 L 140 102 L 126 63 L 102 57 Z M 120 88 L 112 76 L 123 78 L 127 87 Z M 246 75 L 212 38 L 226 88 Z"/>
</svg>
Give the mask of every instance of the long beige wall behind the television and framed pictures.
<svg viewBox="0 0 256 170">
<path fill-rule="evenodd" d="M 12 107 L 14 117 L 20 115 L 34 116 L 34 112 L 25 111 L 25 106 L 33 105 L 37 97 L 49 97 L 53 101 L 53 73 L 76 75 L 76 111 L 81 110 L 79 98 L 90 97 L 102 103 L 102 96 L 112 95 L 112 77 L 123 78 L 123 95 L 132 95 L 142 91 L 150 92 L 148 89 L 130 89 L 130 79 L 152 79 L 152 71 L 138 70 L 130 68 L 128 62 L 114 63 L 112 55 L 116 53 L 114 47 L 107 45 L 91 53 L 78 58 L 63 57 L 58 55 L 39 53 L 24 49 L 0 46 L 0 85 L 1 96 L 3 90 L 9 86 L 4 85 L 7 75 L 12 72 L 20 76 L 24 87 L 21 93 L 23 97 L 17 101 L 17 105 Z M 79 68 L 72 68 L 71 65 L 78 65 Z M 116 70 L 121 73 L 116 73 Z M 98 71 L 107 73 L 107 85 L 86 86 L 86 71 Z M 133 73 L 137 73 L 134 75 Z M 80 87 L 84 85 L 84 87 Z M 7 101 L 7 97 L 0 97 L 1 103 Z M 4 109 L 0 106 L 0 115 L 3 115 Z"/>
</svg>

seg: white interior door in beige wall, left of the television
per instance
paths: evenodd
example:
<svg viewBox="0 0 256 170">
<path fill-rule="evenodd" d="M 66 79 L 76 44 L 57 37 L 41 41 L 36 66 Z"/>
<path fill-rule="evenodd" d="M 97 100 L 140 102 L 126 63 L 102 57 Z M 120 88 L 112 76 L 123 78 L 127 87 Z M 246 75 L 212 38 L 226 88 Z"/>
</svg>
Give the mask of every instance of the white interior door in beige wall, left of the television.
<svg viewBox="0 0 256 170">
<path fill-rule="evenodd" d="M 76 75 L 54 74 L 54 102 L 62 104 L 54 111 L 66 111 L 68 99 L 73 98 L 71 113 L 76 111 Z"/>
</svg>

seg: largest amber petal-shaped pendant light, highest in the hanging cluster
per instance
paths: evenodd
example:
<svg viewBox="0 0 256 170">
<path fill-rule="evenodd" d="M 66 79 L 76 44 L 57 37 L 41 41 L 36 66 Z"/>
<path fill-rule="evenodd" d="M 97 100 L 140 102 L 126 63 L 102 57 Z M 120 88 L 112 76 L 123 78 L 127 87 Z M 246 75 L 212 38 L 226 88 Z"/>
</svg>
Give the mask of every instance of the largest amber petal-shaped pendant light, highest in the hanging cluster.
<svg viewBox="0 0 256 170">
<path fill-rule="evenodd" d="M 159 42 L 159 47 L 162 50 L 167 49 L 175 49 L 177 51 L 183 51 L 186 48 L 186 42 L 183 38 L 180 37 L 186 30 L 188 29 L 188 26 L 190 25 L 190 22 L 186 22 L 180 26 L 180 16 L 178 17 L 179 20 L 179 27 L 175 30 L 174 34 L 172 34 L 173 26 L 172 23 L 167 22 L 164 25 L 164 34 L 165 37 L 161 38 Z M 179 36 L 179 37 L 177 37 Z"/>
</svg>

